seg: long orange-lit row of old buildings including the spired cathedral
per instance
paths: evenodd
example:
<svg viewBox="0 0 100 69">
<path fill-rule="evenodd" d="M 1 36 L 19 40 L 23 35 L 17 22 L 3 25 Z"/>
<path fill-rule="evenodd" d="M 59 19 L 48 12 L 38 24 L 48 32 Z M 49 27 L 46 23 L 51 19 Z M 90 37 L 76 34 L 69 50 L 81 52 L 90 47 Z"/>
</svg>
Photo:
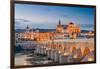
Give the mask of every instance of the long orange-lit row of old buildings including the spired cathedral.
<svg viewBox="0 0 100 69">
<path fill-rule="evenodd" d="M 20 39 L 44 41 L 65 37 L 76 39 L 80 33 L 81 28 L 79 26 L 76 26 L 73 22 L 68 23 L 68 25 L 62 25 L 61 20 L 59 20 L 55 31 L 40 32 L 38 29 L 33 31 L 33 29 L 27 26 L 25 32 L 16 32 L 15 36 L 16 38 Z M 93 33 L 91 35 L 93 35 Z"/>
</svg>

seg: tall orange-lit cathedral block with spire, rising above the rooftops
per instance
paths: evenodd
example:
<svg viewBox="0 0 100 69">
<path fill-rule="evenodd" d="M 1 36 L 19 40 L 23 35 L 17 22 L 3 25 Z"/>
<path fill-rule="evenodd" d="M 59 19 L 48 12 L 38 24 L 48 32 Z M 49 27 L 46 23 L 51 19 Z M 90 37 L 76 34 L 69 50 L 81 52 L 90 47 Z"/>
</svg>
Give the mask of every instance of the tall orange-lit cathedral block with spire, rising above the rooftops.
<svg viewBox="0 0 100 69">
<path fill-rule="evenodd" d="M 81 29 L 72 22 L 70 22 L 68 25 L 62 25 L 61 21 L 59 20 L 56 32 L 67 33 L 69 34 L 70 38 L 76 39 L 77 35 L 81 32 Z"/>
</svg>

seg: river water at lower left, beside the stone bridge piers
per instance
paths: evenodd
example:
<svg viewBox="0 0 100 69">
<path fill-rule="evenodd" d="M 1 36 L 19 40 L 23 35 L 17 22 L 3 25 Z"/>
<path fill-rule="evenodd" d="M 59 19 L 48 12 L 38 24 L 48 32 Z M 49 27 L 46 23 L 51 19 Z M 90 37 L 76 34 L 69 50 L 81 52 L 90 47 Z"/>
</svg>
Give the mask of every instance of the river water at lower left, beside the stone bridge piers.
<svg viewBox="0 0 100 69">
<path fill-rule="evenodd" d="M 46 55 L 35 54 L 35 49 L 22 49 L 21 46 L 17 46 L 15 49 L 15 65 L 38 65 L 52 63 L 53 61 L 48 59 Z"/>
</svg>

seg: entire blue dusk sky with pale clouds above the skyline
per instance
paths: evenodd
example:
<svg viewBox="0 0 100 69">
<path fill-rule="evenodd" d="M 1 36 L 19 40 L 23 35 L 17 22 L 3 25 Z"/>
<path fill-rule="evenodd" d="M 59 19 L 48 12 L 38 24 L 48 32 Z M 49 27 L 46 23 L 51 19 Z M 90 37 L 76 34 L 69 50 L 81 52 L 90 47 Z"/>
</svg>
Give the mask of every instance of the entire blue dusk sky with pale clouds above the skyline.
<svg viewBox="0 0 100 69">
<path fill-rule="evenodd" d="M 67 25 L 73 22 L 81 29 L 94 30 L 94 8 L 15 4 L 15 29 L 55 29 L 59 19 Z"/>
</svg>

